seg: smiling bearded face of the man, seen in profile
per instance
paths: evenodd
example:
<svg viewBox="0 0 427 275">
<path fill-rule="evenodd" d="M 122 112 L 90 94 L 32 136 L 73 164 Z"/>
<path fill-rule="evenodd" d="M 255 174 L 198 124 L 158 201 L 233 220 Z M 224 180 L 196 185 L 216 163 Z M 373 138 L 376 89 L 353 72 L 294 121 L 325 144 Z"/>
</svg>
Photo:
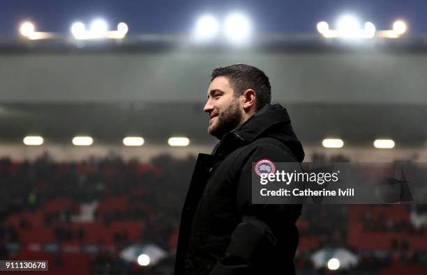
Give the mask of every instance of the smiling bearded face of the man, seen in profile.
<svg viewBox="0 0 427 275">
<path fill-rule="evenodd" d="M 241 123 L 243 108 L 227 77 L 213 79 L 203 111 L 209 113 L 208 132 L 217 139 L 222 139 Z"/>
</svg>

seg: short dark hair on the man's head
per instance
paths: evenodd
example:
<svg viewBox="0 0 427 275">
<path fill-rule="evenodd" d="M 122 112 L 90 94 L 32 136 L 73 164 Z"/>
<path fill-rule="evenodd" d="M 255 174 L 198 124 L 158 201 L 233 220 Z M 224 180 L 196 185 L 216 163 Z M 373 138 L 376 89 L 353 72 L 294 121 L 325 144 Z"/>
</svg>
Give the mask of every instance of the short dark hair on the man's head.
<svg viewBox="0 0 427 275">
<path fill-rule="evenodd" d="M 239 96 L 248 89 L 255 91 L 255 110 L 258 111 L 265 104 L 271 102 L 271 86 L 269 77 L 262 70 L 246 65 L 234 64 L 213 69 L 211 82 L 216 77 L 227 77 L 234 90 L 234 95 Z"/>
</svg>

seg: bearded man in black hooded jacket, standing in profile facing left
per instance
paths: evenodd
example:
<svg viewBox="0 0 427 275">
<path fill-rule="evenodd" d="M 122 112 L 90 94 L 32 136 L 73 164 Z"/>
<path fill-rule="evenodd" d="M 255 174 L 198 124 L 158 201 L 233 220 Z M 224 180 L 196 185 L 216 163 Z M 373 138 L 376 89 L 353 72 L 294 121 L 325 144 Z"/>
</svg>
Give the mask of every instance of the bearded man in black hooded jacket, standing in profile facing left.
<svg viewBox="0 0 427 275">
<path fill-rule="evenodd" d="M 244 64 L 213 70 L 204 111 L 219 143 L 200 154 L 184 203 L 175 274 L 294 274 L 301 205 L 253 205 L 253 162 L 302 162 L 269 78 Z"/>
</svg>

